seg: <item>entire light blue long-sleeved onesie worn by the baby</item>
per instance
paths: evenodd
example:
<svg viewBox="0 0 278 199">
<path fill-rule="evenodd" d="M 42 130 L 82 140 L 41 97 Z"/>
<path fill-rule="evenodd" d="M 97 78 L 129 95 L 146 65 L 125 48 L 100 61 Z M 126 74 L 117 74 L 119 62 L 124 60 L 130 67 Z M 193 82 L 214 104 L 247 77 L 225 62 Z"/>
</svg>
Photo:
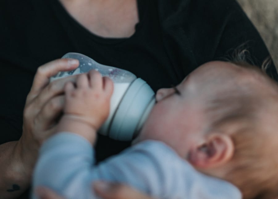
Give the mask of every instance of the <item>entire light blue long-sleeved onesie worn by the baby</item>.
<svg viewBox="0 0 278 199">
<path fill-rule="evenodd" d="M 138 143 L 95 165 L 91 144 L 70 132 L 43 144 L 33 188 L 47 186 L 67 199 L 97 198 L 92 182 L 100 179 L 128 184 L 159 199 L 242 198 L 234 185 L 196 171 L 160 141 Z"/>
</svg>

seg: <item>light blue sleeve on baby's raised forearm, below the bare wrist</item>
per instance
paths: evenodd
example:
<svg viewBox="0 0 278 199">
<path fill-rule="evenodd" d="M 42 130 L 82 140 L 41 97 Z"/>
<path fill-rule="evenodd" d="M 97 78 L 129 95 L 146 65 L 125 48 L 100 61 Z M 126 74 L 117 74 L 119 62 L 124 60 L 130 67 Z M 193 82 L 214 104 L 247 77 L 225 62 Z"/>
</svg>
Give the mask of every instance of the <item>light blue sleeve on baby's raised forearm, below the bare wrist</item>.
<svg viewBox="0 0 278 199">
<path fill-rule="evenodd" d="M 60 132 L 40 149 L 33 174 L 32 198 L 38 186 L 51 188 L 67 199 L 92 198 L 89 172 L 95 163 L 94 150 L 82 136 Z"/>
</svg>

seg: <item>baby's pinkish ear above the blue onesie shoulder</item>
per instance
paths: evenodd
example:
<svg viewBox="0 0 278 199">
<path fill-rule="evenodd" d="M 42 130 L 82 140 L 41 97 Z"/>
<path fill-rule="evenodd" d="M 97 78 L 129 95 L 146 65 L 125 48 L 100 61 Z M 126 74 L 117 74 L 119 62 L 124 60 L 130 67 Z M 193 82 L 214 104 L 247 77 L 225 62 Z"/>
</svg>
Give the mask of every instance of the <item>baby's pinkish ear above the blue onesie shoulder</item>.
<svg viewBox="0 0 278 199">
<path fill-rule="evenodd" d="M 227 163 L 234 155 L 234 143 L 229 135 L 210 133 L 203 143 L 190 149 L 188 161 L 196 168 L 208 169 Z"/>
</svg>

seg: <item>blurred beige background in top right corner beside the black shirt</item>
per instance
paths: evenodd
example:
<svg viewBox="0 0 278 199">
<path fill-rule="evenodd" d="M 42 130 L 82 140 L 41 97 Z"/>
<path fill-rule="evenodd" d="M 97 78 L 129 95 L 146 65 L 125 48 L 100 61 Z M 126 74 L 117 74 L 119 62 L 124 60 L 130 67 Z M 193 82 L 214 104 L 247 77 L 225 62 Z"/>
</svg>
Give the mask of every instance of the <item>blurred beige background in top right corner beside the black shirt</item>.
<svg viewBox="0 0 278 199">
<path fill-rule="evenodd" d="M 278 0 L 238 0 L 265 41 L 278 68 Z"/>
</svg>

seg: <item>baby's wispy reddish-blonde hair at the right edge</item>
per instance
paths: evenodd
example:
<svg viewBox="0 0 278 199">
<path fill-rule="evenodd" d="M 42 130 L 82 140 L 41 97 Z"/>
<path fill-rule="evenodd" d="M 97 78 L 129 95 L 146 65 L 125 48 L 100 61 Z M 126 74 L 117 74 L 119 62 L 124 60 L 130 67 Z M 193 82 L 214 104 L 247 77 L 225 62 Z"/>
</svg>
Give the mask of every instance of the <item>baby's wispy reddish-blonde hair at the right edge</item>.
<svg viewBox="0 0 278 199">
<path fill-rule="evenodd" d="M 242 59 L 233 63 L 240 72 L 223 77 L 225 89 L 207 99 L 206 112 L 213 118 L 211 128 L 229 132 L 236 126 L 231 133 L 232 167 L 225 180 L 235 184 L 244 199 L 271 199 L 278 196 L 278 84 L 265 74 L 265 65 L 261 70 Z"/>
</svg>

